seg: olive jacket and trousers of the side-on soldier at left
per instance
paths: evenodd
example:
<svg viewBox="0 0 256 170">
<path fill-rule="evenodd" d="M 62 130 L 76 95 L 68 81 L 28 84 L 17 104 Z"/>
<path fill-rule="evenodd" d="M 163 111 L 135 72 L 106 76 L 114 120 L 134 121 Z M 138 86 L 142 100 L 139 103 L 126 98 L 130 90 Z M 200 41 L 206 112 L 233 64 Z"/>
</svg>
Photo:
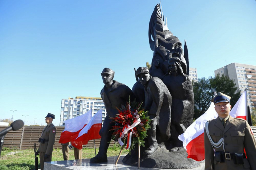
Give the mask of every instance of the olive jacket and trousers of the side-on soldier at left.
<svg viewBox="0 0 256 170">
<path fill-rule="evenodd" d="M 53 153 L 53 145 L 55 142 L 55 135 L 56 135 L 56 128 L 51 123 L 47 125 L 42 132 L 41 140 L 46 140 L 44 143 L 40 143 L 38 152 L 40 158 L 40 166 L 41 170 L 44 169 L 44 162 L 51 162 L 52 161 L 52 153 Z M 48 158 L 44 158 L 44 156 L 49 155 Z"/>
</svg>

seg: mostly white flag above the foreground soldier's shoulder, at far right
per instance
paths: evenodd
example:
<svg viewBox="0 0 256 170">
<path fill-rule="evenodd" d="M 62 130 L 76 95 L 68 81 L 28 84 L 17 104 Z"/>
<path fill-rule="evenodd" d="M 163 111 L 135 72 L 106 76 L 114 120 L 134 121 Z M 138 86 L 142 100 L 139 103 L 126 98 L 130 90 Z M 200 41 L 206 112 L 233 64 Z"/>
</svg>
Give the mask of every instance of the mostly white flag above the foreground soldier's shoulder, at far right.
<svg viewBox="0 0 256 170">
<path fill-rule="evenodd" d="M 238 99 L 237 103 L 231 109 L 229 115 L 232 117 L 242 118 L 247 120 L 247 90 Z"/>
</svg>

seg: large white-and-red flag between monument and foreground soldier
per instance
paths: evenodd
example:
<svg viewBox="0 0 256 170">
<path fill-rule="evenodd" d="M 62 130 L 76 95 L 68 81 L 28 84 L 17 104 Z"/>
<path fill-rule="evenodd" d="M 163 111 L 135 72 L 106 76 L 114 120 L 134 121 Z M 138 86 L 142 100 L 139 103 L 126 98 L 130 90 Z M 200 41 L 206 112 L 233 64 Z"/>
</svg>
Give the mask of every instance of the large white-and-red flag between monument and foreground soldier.
<svg viewBox="0 0 256 170">
<path fill-rule="evenodd" d="M 185 133 L 179 135 L 179 139 L 183 142 L 183 147 L 187 150 L 188 158 L 197 161 L 204 160 L 204 126 L 208 120 L 216 119 L 218 114 L 211 102 L 208 110 L 193 122 Z"/>
</svg>

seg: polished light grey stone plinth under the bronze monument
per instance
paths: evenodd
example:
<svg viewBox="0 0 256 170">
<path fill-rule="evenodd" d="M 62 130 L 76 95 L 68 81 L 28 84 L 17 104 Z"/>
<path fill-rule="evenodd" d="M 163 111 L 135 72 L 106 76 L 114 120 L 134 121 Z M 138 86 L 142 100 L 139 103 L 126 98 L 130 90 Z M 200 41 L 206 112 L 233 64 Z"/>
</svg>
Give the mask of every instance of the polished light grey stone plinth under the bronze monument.
<svg viewBox="0 0 256 170">
<path fill-rule="evenodd" d="M 90 159 L 78 159 L 78 160 L 62 160 L 62 161 L 52 161 L 44 163 L 44 170 L 136 170 L 138 166 L 126 165 L 122 162 L 125 155 L 121 155 L 117 165 L 115 165 L 115 161 L 117 156 L 108 157 L 107 163 L 99 163 L 99 164 L 90 164 Z M 148 168 L 140 168 L 141 170 L 147 170 Z M 158 170 L 160 170 L 158 168 Z M 179 170 L 179 169 L 178 169 Z M 191 168 L 187 170 L 204 170 L 204 163 L 201 162 L 200 167 Z"/>
</svg>

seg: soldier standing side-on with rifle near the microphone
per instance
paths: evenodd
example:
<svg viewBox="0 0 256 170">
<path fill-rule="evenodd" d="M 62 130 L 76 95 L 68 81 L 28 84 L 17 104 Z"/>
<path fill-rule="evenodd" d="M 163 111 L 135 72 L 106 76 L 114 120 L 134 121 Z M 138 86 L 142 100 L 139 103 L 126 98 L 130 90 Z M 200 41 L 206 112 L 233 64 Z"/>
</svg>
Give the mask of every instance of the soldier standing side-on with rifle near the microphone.
<svg viewBox="0 0 256 170">
<path fill-rule="evenodd" d="M 45 117 L 45 122 L 47 126 L 43 129 L 39 148 L 36 155 L 39 154 L 41 170 L 44 169 L 44 162 L 52 161 L 53 145 L 55 142 L 56 128 L 53 125 L 53 119 L 55 118 L 54 114 L 48 113 Z"/>
</svg>

